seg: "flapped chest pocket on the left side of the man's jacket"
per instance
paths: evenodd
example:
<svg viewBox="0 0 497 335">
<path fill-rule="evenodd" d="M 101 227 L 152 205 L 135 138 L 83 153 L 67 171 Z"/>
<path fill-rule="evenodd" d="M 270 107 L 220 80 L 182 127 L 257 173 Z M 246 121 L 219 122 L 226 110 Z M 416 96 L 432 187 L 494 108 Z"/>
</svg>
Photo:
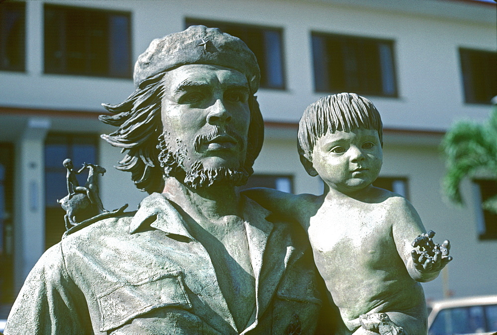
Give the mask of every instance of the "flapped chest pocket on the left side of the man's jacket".
<svg viewBox="0 0 497 335">
<path fill-rule="evenodd" d="M 100 332 L 122 326 L 156 308 L 173 306 L 191 309 L 181 272 L 174 271 L 130 284 L 121 283 L 97 296 Z"/>
</svg>

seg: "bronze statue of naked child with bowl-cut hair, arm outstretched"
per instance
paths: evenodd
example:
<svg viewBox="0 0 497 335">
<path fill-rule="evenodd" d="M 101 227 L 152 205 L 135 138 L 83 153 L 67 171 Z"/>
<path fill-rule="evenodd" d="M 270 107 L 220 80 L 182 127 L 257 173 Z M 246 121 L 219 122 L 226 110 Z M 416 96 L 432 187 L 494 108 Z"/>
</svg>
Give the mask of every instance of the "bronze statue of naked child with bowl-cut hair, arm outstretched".
<svg viewBox="0 0 497 335">
<path fill-rule="evenodd" d="M 402 327 L 393 334 L 426 334 L 419 282 L 433 280 L 451 261 L 450 244 L 432 242 L 434 233 L 426 233 L 405 198 L 371 185 L 382 166 L 382 127 L 366 98 L 321 98 L 304 112 L 298 137 L 301 162 L 323 179 L 324 194 L 246 194 L 307 230 L 316 266 L 348 328 L 344 334 L 380 333 L 371 320 Z"/>
</svg>

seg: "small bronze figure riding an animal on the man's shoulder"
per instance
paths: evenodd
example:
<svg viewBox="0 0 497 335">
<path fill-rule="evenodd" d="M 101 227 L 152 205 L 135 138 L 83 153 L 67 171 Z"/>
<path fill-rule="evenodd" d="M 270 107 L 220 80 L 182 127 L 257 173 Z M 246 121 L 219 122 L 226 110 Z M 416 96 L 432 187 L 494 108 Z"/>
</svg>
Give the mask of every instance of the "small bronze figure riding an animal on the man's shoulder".
<svg viewBox="0 0 497 335">
<path fill-rule="evenodd" d="M 75 226 L 85 219 L 93 217 L 102 212 L 108 212 L 103 208 L 102 201 L 98 195 L 98 186 L 96 176 L 103 174 L 106 170 L 96 164 L 83 164 L 83 168 L 75 171 L 71 159 L 66 159 L 63 165 L 67 168 L 67 188 L 68 195 L 57 202 L 66 211 L 64 220 L 66 221 L 66 229 Z M 79 186 L 76 174 L 80 174 L 83 170 L 88 169 L 88 178 L 84 186 Z"/>
</svg>

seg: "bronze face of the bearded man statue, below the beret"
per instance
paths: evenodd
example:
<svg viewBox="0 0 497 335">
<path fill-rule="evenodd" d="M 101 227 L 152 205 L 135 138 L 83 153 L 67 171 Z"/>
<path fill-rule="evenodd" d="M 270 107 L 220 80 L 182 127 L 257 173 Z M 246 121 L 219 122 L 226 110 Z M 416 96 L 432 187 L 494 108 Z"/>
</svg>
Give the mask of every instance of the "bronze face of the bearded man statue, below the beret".
<svg viewBox="0 0 497 335">
<path fill-rule="evenodd" d="M 185 65 L 166 72 L 162 122 L 172 151 L 185 170 L 239 168 L 247 154 L 249 88 L 239 71 Z"/>
</svg>

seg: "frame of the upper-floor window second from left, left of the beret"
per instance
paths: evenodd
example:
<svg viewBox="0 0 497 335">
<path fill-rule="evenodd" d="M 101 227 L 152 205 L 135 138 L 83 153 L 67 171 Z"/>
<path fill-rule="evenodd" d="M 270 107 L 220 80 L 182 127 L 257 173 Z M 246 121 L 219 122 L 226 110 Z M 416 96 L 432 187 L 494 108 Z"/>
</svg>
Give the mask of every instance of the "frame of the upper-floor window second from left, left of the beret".
<svg viewBox="0 0 497 335">
<path fill-rule="evenodd" d="M 47 9 L 55 9 L 55 10 L 64 10 L 65 15 L 70 13 L 70 11 L 80 11 L 80 12 L 85 12 L 85 15 L 91 14 L 91 13 L 101 13 L 103 15 L 106 15 L 106 20 L 105 23 L 107 24 L 106 27 L 106 33 L 107 37 L 110 35 L 110 28 L 109 28 L 109 20 L 112 15 L 122 15 L 127 17 L 127 23 L 128 23 L 128 38 L 127 38 L 127 55 L 128 55 L 128 64 L 123 67 L 123 70 L 126 68 L 127 72 L 126 74 L 111 74 L 110 70 L 110 57 L 107 60 L 107 65 L 106 65 L 106 70 L 105 73 L 96 73 L 96 72 L 91 72 L 89 71 L 88 65 L 85 65 L 85 69 L 83 71 L 72 71 L 67 69 L 67 65 L 65 66 L 64 69 L 54 69 L 50 68 L 51 65 L 48 63 L 50 62 L 49 58 L 49 51 L 47 50 Z M 62 24 L 62 23 L 61 23 Z M 132 41 L 132 35 L 133 35 L 133 21 L 132 21 L 132 12 L 131 11 L 125 11 L 125 10 L 114 10 L 114 9 L 106 9 L 106 8 L 95 8 L 95 7 L 86 7 L 86 6 L 73 6 L 73 5 L 65 5 L 65 4 L 54 4 L 54 3 L 44 3 L 43 5 L 43 73 L 44 74 L 56 74 L 56 75 L 71 75 L 71 76 L 85 76 L 85 77 L 100 77 L 100 78 L 113 78 L 113 79 L 132 79 L 133 78 L 133 41 Z M 84 35 L 86 36 L 86 35 Z M 61 44 L 65 44 L 67 42 L 67 34 L 60 33 L 58 38 L 61 39 Z M 106 48 L 107 55 L 111 54 L 111 47 L 110 47 L 110 39 L 107 39 L 108 47 Z M 68 60 L 67 56 L 67 50 L 61 51 L 61 53 L 65 53 L 64 57 L 61 56 L 61 59 L 64 59 L 65 62 Z M 85 53 L 83 54 L 83 59 L 86 60 L 88 51 L 86 50 Z M 52 60 L 52 62 L 55 62 L 55 60 Z"/>
</svg>

